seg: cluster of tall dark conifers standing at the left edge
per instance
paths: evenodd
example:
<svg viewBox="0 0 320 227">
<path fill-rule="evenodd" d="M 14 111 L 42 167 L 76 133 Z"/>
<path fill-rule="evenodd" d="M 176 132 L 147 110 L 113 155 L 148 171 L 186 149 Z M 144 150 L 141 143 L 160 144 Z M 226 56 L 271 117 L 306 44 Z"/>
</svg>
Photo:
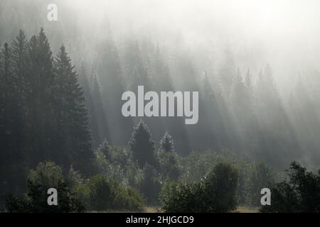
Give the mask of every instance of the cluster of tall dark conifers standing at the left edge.
<svg viewBox="0 0 320 227">
<path fill-rule="evenodd" d="M 1 192 L 23 190 L 26 170 L 44 160 L 92 171 L 85 96 L 63 45 L 53 57 L 42 28 L 30 40 L 20 31 L 1 48 L 0 86 Z"/>
</svg>

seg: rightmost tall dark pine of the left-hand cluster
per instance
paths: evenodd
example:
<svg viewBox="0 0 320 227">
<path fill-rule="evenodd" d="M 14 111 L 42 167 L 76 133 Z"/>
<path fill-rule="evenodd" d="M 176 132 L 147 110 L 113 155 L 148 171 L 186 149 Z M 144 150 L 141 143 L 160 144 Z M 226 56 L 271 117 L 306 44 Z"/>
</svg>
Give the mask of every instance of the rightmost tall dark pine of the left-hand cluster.
<svg viewBox="0 0 320 227">
<path fill-rule="evenodd" d="M 87 128 L 87 110 L 82 88 L 78 83 L 78 74 L 71 64 L 70 57 L 62 46 L 55 57 L 55 74 L 58 86 L 58 116 L 63 135 L 60 139 L 65 143 L 63 154 L 76 170 L 89 174 L 92 168 L 93 153 L 91 137 Z M 60 130 L 60 129 L 59 129 Z"/>
</svg>

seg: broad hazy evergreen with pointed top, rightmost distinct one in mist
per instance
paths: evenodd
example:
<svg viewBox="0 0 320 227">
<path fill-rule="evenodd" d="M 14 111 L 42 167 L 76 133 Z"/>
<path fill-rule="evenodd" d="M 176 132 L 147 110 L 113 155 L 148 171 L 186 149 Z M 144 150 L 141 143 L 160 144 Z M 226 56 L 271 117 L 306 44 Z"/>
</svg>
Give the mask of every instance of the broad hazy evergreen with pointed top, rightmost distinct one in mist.
<svg viewBox="0 0 320 227">
<path fill-rule="evenodd" d="M 258 148 L 255 150 L 255 155 L 277 167 L 287 165 L 289 155 L 292 158 L 297 157 L 294 150 L 299 145 L 274 84 L 269 65 L 260 73 L 255 86 L 255 118 L 257 118 Z"/>
</svg>

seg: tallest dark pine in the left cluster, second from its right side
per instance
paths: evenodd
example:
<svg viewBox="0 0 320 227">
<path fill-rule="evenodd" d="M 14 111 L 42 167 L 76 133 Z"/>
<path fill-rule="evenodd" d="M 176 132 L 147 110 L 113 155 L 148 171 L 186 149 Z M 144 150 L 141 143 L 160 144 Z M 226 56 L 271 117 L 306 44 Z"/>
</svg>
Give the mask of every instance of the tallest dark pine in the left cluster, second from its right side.
<svg viewBox="0 0 320 227">
<path fill-rule="evenodd" d="M 26 69 L 28 89 L 26 90 L 28 106 L 28 162 L 35 167 L 38 162 L 48 160 L 54 153 L 53 101 L 55 77 L 53 57 L 48 38 L 43 28 L 39 35 L 33 35 L 28 43 L 29 64 Z"/>
</svg>

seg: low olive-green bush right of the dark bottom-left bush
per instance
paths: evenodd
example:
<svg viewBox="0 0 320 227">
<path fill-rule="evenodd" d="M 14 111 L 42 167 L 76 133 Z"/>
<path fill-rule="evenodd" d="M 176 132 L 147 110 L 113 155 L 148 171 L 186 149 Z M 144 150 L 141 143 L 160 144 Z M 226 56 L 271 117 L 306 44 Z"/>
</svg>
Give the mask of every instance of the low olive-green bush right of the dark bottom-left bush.
<svg viewBox="0 0 320 227">
<path fill-rule="evenodd" d="M 93 210 L 142 211 L 144 208 L 144 199 L 139 193 L 103 175 L 91 177 L 87 187 L 90 191 L 90 205 Z"/>
</svg>

